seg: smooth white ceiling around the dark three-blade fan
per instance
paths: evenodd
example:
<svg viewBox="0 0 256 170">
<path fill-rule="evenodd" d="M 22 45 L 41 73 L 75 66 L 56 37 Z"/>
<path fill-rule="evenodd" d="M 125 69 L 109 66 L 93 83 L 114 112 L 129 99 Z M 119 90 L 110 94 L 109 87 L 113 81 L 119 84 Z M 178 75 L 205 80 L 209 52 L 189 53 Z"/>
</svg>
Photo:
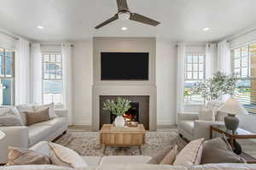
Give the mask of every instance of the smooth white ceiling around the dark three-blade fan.
<svg viewBox="0 0 256 170">
<path fill-rule="evenodd" d="M 117 20 L 94 27 L 116 13 L 116 0 L 0 0 L 0 27 L 36 41 L 89 37 L 159 37 L 214 41 L 256 24 L 256 0 L 127 0 L 131 12 L 161 22 L 146 26 Z M 44 26 L 39 30 L 37 26 Z M 121 31 L 127 26 L 128 31 Z M 204 32 L 203 28 L 210 31 Z"/>
</svg>

